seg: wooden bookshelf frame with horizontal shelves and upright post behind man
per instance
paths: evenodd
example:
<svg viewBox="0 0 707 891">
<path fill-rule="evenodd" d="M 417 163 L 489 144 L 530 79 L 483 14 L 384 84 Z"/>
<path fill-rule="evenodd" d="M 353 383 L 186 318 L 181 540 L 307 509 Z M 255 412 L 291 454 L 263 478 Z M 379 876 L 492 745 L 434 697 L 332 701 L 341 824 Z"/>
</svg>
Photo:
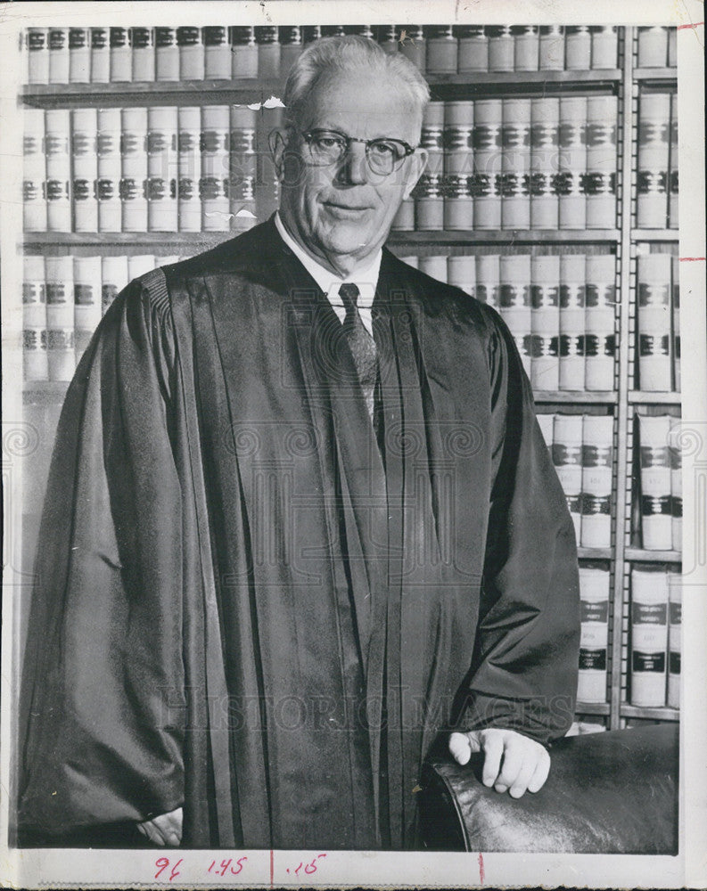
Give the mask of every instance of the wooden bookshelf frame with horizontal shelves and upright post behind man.
<svg viewBox="0 0 707 891">
<path fill-rule="evenodd" d="M 648 67 L 639 62 L 639 32 L 618 29 L 617 66 L 604 69 L 528 71 L 476 71 L 474 73 L 426 73 L 433 102 L 479 100 L 539 100 L 543 97 L 602 97 L 617 103 L 617 166 L 615 225 L 604 228 L 505 228 L 464 230 L 394 229 L 389 245 L 400 257 L 501 256 L 548 253 L 610 254 L 615 258 L 617 301 L 613 337 L 613 380 L 604 389 L 537 389 L 540 414 L 570 413 L 612 419 L 611 540 L 608 546 L 580 543 L 582 566 L 602 568 L 609 574 L 610 602 L 606 649 L 606 695 L 602 702 L 579 702 L 577 716 L 619 729 L 633 721 L 677 721 L 679 711 L 665 704 L 637 706 L 630 702 L 630 608 L 631 572 L 635 566 L 675 571 L 681 555 L 675 548 L 649 550 L 637 546 L 636 473 L 634 426 L 637 413 L 678 415 L 680 394 L 675 389 L 651 391 L 641 387 L 637 374 L 639 282 L 637 257 L 645 253 L 675 252 L 678 230 L 666 225 L 637 225 L 638 126 L 642 95 L 674 94 L 677 70 L 667 64 Z M 665 61 L 668 61 L 666 37 Z M 429 45 L 428 45 L 429 53 Z M 429 55 L 428 55 L 429 58 Z M 160 106 L 243 105 L 267 103 L 282 96 L 284 78 L 184 78 L 172 81 L 141 80 L 119 83 L 31 84 L 21 89 L 21 103 L 28 109 L 67 110 L 125 109 Z M 272 105 L 272 103 L 270 103 Z M 259 132 L 255 151 L 264 152 L 266 116 L 258 112 Z M 273 125 L 274 126 L 274 125 Z M 263 185 L 259 184 L 260 192 Z M 256 189 L 258 192 L 258 189 Z M 256 201 L 259 200 L 256 194 Z M 272 196 L 270 196 L 270 199 Z M 269 200 L 269 199 L 268 199 Z M 666 201 L 668 198 L 666 197 Z M 190 256 L 234 236 L 234 232 L 27 232 L 18 250 L 28 257 L 160 257 Z M 673 373 L 673 377 L 675 372 Z M 666 386 L 670 384 L 666 381 Z M 674 384 L 674 381 L 672 381 Z M 68 383 L 62 380 L 30 380 L 23 385 L 23 402 L 38 423 L 55 424 Z M 38 510 L 38 508 L 35 508 Z M 34 522 L 34 520 L 32 521 Z M 30 536 L 31 537 L 31 536 Z M 667 700 L 666 700 L 667 701 Z"/>
</svg>

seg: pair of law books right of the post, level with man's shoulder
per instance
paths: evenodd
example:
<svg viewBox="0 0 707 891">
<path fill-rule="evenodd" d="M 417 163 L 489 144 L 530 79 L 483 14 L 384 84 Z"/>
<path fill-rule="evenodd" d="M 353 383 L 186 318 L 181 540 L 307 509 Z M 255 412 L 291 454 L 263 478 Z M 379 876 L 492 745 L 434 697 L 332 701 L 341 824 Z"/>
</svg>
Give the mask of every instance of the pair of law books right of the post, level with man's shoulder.
<svg viewBox="0 0 707 891">
<path fill-rule="evenodd" d="M 637 257 L 637 389 L 680 389 L 679 273 L 676 254 Z"/>
</svg>

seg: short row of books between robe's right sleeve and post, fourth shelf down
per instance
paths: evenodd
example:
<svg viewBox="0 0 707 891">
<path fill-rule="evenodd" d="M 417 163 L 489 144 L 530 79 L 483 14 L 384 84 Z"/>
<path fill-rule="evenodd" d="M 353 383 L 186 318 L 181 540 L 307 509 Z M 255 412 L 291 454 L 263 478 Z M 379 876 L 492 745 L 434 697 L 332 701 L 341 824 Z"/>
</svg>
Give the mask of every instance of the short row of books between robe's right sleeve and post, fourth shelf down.
<svg viewBox="0 0 707 891">
<path fill-rule="evenodd" d="M 603 414 L 538 414 L 584 548 L 612 544 L 613 417 Z"/>
</svg>

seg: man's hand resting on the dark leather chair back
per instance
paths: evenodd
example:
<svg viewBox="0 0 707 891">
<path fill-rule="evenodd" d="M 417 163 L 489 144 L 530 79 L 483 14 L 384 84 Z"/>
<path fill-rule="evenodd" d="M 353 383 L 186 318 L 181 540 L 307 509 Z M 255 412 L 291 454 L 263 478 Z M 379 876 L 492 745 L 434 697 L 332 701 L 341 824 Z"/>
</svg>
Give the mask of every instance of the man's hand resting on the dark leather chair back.
<svg viewBox="0 0 707 891">
<path fill-rule="evenodd" d="M 452 733 L 449 751 L 458 764 L 467 764 L 473 752 L 483 752 L 483 784 L 514 798 L 542 789 L 550 772 L 547 749 L 513 730 L 475 730 Z"/>
</svg>

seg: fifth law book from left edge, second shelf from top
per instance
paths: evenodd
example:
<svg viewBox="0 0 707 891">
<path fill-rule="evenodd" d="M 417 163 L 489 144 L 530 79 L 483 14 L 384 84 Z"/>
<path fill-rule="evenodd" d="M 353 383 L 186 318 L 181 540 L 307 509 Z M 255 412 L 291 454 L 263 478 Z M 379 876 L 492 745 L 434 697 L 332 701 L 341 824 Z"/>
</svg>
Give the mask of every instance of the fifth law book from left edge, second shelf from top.
<svg viewBox="0 0 707 891">
<path fill-rule="evenodd" d="M 122 109 L 120 126 L 122 231 L 147 232 L 147 109 Z"/>
</svg>

